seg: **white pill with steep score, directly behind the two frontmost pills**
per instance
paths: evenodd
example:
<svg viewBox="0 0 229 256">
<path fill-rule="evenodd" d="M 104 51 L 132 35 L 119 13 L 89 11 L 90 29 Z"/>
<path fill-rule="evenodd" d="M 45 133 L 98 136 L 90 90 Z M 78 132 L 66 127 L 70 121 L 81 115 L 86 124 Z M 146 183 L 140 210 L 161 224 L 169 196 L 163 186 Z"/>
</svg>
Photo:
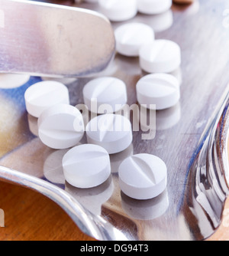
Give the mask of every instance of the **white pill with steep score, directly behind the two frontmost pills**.
<svg viewBox="0 0 229 256">
<path fill-rule="evenodd" d="M 126 117 L 105 114 L 93 118 L 86 126 L 88 143 L 104 147 L 109 154 L 120 153 L 131 145 L 131 122 Z"/>
</svg>

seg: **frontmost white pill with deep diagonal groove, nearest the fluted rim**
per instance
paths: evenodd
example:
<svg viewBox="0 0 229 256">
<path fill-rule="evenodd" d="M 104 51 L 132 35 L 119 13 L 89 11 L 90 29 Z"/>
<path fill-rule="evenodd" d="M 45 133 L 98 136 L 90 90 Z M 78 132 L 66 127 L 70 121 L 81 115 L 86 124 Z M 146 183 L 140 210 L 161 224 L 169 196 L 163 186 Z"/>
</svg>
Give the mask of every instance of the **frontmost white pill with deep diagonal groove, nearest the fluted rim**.
<svg viewBox="0 0 229 256">
<path fill-rule="evenodd" d="M 139 154 L 125 159 L 119 167 L 118 175 L 121 191 L 133 199 L 156 198 L 167 185 L 165 162 L 150 154 Z"/>
</svg>

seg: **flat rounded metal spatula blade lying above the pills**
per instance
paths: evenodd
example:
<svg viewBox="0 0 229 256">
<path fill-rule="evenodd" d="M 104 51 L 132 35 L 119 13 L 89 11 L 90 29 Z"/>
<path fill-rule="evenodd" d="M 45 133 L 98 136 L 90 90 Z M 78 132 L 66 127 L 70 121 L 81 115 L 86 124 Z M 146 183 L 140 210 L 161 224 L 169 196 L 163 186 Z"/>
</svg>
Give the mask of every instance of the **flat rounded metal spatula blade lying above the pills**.
<svg viewBox="0 0 229 256">
<path fill-rule="evenodd" d="M 95 11 L 0 0 L 0 72 L 82 77 L 107 67 L 114 33 Z"/>
</svg>

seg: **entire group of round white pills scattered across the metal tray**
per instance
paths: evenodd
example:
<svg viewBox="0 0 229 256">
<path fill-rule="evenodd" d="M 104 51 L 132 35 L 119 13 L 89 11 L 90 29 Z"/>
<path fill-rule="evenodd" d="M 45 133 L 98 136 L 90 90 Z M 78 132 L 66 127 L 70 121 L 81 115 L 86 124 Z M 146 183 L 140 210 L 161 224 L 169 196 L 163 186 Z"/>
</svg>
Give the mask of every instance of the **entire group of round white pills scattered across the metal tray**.
<svg viewBox="0 0 229 256">
<path fill-rule="evenodd" d="M 172 0 L 85 0 L 98 2 L 111 21 L 127 21 L 141 12 L 155 15 L 168 10 Z M 120 25 L 114 31 L 117 54 L 139 57 L 148 74 L 136 84 L 137 101 L 147 109 L 166 110 L 180 100 L 179 80 L 171 72 L 181 64 L 181 48 L 174 41 L 156 39 L 153 28 L 142 23 Z M 96 117 L 84 123 L 82 113 L 69 104 L 69 91 L 60 82 L 46 80 L 24 94 L 27 112 L 37 117 L 38 136 L 52 149 L 67 149 L 63 173 L 69 184 L 89 189 L 111 175 L 111 156 L 133 141 L 131 121 L 117 114 L 127 104 L 127 86 L 116 77 L 98 77 L 85 84 L 83 103 Z M 105 111 L 106 110 L 106 111 Z M 106 113 L 105 113 L 106 112 Z M 85 135 L 87 143 L 82 142 Z M 166 189 L 166 163 L 151 154 L 128 156 L 118 169 L 125 195 L 153 199 Z"/>
</svg>

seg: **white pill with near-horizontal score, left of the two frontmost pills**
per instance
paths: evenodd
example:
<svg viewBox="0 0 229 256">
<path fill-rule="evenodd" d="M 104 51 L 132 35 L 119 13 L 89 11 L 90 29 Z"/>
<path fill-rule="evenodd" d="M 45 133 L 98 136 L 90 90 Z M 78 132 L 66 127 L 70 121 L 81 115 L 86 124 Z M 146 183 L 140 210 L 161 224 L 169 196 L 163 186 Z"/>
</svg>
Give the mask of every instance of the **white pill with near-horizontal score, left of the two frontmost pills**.
<svg viewBox="0 0 229 256">
<path fill-rule="evenodd" d="M 63 173 L 70 185 L 80 189 L 101 185 L 111 175 L 109 154 L 97 145 L 76 146 L 63 156 Z"/>
</svg>

